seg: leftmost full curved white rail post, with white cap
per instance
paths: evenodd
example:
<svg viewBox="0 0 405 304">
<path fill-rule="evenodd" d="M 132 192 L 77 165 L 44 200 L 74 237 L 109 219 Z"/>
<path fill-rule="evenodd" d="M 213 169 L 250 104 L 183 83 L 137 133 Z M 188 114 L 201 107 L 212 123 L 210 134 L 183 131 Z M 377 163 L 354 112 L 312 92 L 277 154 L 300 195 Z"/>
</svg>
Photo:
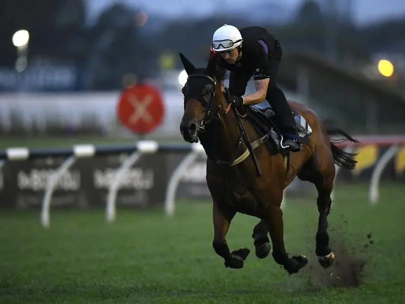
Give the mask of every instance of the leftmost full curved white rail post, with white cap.
<svg viewBox="0 0 405 304">
<path fill-rule="evenodd" d="M 41 224 L 44 228 L 49 228 L 50 225 L 50 207 L 52 195 L 55 191 L 58 180 L 65 174 L 74 164 L 77 158 L 92 157 L 95 154 L 95 147 L 90 144 L 79 144 L 73 146 L 72 156 L 68 157 L 62 165 L 51 175 L 47 182 L 45 195 L 42 200 L 41 207 Z"/>
</svg>

